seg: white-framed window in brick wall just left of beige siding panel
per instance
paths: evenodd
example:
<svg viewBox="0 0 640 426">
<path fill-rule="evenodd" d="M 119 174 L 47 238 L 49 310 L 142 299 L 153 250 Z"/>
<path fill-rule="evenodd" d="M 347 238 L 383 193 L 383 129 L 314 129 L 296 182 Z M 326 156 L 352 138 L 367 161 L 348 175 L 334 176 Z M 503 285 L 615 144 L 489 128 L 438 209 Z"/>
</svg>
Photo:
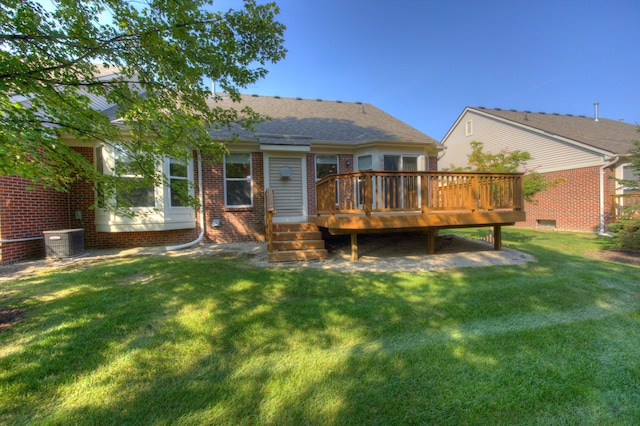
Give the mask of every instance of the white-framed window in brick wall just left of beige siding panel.
<svg viewBox="0 0 640 426">
<path fill-rule="evenodd" d="M 251 154 L 229 154 L 224 158 L 225 205 L 251 207 Z"/>
</svg>

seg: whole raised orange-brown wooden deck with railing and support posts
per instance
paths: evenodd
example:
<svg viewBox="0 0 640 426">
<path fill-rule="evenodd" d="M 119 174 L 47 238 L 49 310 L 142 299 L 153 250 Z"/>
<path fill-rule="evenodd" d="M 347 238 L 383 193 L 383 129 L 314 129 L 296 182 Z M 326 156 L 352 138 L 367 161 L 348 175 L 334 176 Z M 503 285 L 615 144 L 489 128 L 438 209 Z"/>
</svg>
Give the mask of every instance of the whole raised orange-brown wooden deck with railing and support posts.
<svg viewBox="0 0 640 426">
<path fill-rule="evenodd" d="M 357 234 L 428 231 L 434 251 L 440 228 L 501 227 L 525 220 L 519 173 L 367 171 L 328 176 L 316 184 L 317 213 L 309 221 L 332 234 L 350 234 L 357 259 Z"/>
</svg>

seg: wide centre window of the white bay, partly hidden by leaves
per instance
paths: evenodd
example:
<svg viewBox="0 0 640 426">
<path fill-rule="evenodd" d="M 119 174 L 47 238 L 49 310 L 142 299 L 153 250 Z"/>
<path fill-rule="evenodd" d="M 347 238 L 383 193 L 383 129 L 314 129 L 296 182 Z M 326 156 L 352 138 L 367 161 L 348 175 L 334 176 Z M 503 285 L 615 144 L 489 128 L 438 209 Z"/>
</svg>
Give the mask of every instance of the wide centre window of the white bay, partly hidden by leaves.
<svg viewBox="0 0 640 426">
<path fill-rule="evenodd" d="M 139 166 L 127 152 L 115 151 L 114 174 L 124 183 L 116 194 L 118 207 L 155 207 L 155 187 L 144 179 Z"/>
</svg>

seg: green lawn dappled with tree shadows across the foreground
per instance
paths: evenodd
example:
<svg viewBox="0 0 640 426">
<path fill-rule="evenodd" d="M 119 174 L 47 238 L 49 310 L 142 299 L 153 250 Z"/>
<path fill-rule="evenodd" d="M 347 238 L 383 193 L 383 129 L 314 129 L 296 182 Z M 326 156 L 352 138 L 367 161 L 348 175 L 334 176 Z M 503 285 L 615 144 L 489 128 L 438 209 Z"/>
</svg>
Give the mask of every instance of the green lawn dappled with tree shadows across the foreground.
<svg viewBox="0 0 640 426">
<path fill-rule="evenodd" d="M 640 267 L 585 257 L 592 235 L 503 237 L 539 262 L 159 256 L 0 284 L 21 313 L 0 331 L 0 424 L 639 424 Z"/>
</svg>

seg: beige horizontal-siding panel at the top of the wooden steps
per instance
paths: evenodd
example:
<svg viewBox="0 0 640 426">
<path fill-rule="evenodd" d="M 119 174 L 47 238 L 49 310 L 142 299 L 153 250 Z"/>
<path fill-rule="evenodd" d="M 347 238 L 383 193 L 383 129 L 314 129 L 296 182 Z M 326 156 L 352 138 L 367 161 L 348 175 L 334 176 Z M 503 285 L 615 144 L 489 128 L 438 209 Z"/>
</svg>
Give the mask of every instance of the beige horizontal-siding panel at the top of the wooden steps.
<svg viewBox="0 0 640 426">
<path fill-rule="evenodd" d="M 281 167 L 291 168 L 290 178 L 281 178 Z M 278 218 L 304 216 L 302 184 L 300 158 L 269 158 L 269 186 L 275 191 Z"/>
</svg>

